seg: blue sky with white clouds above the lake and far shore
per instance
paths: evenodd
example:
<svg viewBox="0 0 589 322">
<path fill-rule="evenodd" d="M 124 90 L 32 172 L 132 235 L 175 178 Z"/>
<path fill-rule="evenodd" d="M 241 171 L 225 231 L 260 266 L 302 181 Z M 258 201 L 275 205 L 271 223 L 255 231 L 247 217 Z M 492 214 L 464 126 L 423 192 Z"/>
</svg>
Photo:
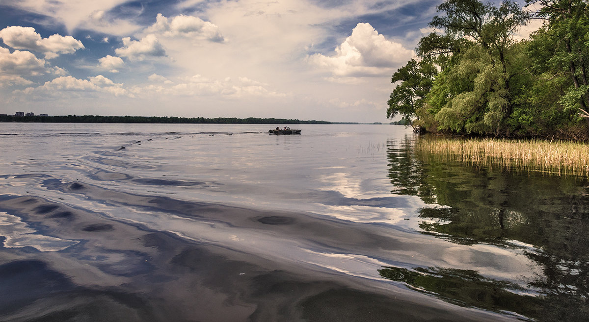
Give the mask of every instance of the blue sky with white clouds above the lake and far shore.
<svg viewBox="0 0 589 322">
<path fill-rule="evenodd" d="M 390 122 L 441 0 L 0 0 L 0 113 Z"/>
</svg>

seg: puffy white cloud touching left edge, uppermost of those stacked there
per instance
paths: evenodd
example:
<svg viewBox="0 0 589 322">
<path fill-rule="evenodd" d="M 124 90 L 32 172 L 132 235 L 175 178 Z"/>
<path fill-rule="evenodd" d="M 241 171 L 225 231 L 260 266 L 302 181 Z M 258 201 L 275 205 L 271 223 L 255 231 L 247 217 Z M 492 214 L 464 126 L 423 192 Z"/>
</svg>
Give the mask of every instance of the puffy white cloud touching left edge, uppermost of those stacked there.
<svg viewBox="0 0 589 322">
<path fill-rule="evenodd" d="M 28 49 L 43 53 L 45 58 L 55 58 L 60 53 L 74 53 L 83 49 L 82 42 L 72 36 L 61 36 L 57 33 L 48 38 L 41 38 L 35 28 L 9 26 L 0 30 L 0 38 L 14 49 Z"/>
</svg>

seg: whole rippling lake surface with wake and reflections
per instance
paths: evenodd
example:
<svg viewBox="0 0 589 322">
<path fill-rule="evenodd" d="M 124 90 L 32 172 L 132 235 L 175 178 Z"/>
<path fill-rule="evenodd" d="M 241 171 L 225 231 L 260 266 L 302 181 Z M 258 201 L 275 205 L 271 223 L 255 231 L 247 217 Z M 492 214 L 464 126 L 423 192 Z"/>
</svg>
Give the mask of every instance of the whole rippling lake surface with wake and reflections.
<svg viewBox="0 0 589 322">
<path fill-rule="evenodd" d="M 0 320 L 588 316 L 585 179 L 274 127 L 0 123 Z"/>
</svg>

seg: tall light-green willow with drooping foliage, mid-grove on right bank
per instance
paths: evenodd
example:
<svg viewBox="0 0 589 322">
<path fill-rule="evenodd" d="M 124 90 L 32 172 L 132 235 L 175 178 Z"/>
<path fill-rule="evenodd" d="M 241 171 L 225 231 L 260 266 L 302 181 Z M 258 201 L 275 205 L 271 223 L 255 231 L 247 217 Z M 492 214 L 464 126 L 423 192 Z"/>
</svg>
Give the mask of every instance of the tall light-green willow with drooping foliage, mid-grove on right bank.
<svg viewBox="0 0 589 322">
<path fill-rule="evenodd" d="M 440 75 L 444 80 L 438 77 L 432 89 L 445 97 L 436 99 L 432 94 L 428 100 L 438 128 L 495 135 L 508 131 L 505 121 L 512 112 L 510 80 L 514 75 L 509 49 L 515 43 L 512 36 L 528 21 L 528 15 L 512 1 L 496 7 L 478 0 L 448 0 L 438 6 L 438 12 L 442 15 L 436 15 L 429 25 L 444 35 L 423 38 L 418 49 L 422 55 L 452 51 Z"/>
</svg>

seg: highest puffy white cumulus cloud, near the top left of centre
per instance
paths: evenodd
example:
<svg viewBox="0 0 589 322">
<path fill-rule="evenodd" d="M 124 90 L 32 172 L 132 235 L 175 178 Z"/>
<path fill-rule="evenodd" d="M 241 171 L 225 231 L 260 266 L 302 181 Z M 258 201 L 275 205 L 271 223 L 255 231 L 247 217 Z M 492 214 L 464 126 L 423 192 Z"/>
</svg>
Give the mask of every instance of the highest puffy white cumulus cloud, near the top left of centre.
<svg viewBox="0 0 589 322">
<path fill-rule="evenodd" d="M 147 28 L 147 32 L 158 33 L 166 37 L 201 38 L 213 42 L 224 42 L 219 27 L 196 16 L 178 15 L 168 19 L 157 14 L 155 24 Z"/>
</svg>

